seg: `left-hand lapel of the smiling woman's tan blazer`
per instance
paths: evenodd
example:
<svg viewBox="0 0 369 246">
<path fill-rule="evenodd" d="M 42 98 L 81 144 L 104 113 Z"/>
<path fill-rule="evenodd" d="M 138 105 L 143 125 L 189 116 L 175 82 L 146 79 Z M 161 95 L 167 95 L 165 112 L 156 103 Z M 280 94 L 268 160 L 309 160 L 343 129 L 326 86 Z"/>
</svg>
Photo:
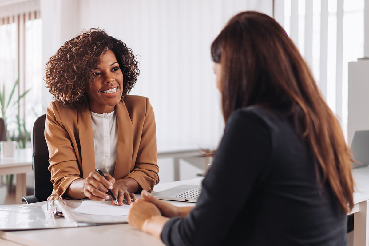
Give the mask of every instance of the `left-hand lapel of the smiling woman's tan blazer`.
<svg viewBox="0 0 369 246">
<path fill-rule="evenodd" d="M 93 140 L 90 107 L 81 106 L 77 111 L 78 134 L 81 145 L 83 179 L 95 169 L 95 148 Z"/>
</svg>

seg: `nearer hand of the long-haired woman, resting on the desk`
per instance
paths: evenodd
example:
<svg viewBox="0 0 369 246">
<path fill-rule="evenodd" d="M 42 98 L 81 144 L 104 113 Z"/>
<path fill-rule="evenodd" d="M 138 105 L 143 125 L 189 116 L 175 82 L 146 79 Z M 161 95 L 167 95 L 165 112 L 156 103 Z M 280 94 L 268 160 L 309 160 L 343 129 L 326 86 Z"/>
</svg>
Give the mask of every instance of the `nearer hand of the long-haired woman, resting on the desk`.
<svg viewBox="0 0 369 246">
<path fill-rule="evenodd" d="M 128 212 L 127 221 L 131 226 L 141 231 L 146 231 L 143 228 L 144 223 L 155 216 L 161 216 L 161 213 L 154 204 L 137 199 Z"/>
</svg>

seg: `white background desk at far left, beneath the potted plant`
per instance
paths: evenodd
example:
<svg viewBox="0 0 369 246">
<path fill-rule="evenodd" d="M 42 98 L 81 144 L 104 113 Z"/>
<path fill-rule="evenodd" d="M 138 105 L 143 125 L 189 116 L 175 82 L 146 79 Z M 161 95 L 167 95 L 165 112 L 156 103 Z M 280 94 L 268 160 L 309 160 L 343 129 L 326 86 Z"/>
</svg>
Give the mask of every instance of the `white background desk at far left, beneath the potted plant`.
<svg viewBox="0 0 369 246">
<path fill-rule="evenodd" d="M 21 204 L 26 195 L 25 174 L 32 172 L 31 148 L 16 149 L 13 157 L 0 158 L 0 175 L 16 174 L 15 201 Z"/>
</svg>

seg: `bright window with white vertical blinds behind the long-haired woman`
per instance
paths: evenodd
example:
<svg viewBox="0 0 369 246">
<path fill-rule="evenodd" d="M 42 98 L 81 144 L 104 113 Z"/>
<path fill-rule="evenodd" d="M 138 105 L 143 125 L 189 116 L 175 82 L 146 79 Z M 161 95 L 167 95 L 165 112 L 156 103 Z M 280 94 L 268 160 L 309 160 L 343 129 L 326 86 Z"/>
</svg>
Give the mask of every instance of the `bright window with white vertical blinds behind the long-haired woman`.
<svg viewBox="0 0 369 246">
<path fill-rule="evenodd" d="M 276 20 L 305 58 L 328 105 L 348 116 L 348 62 L 364 54 L 364 0 L 278 0 Z M 284 4 L 284 9 L 280 5 Z M 277 11 L 277 12 L 276 12 Z M 280 13 L 283 12 L 283 13 Z"/>
</svg>

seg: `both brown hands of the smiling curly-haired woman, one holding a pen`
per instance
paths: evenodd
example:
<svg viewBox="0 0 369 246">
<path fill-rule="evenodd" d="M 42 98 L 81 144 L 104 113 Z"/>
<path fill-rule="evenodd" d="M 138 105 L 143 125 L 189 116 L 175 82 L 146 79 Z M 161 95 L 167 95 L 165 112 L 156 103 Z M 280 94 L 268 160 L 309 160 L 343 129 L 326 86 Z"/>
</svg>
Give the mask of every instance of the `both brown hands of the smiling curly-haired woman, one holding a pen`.
<svg viewBox="0 0 369 246">
<path fill-rule="evenodd" d="M 110 198 L 108 189 L 111 190 L 117 198 L 119 205 L 123 205 L 123 200 L 127 204 L 132 204 L 136 200 L 134 193 L 128 192 L 128 182 L 126 179 L 115 180 L 110 174 L 104 174 L 105 178 L 97 171 L 92 171 L 85 180 L 83 194 L 91 200 L 105 201 Z M 114 201 L 111 201 L 113 205 Z"/>
</svg>

